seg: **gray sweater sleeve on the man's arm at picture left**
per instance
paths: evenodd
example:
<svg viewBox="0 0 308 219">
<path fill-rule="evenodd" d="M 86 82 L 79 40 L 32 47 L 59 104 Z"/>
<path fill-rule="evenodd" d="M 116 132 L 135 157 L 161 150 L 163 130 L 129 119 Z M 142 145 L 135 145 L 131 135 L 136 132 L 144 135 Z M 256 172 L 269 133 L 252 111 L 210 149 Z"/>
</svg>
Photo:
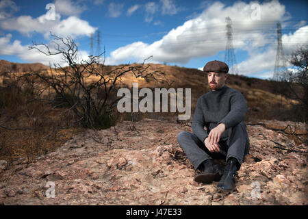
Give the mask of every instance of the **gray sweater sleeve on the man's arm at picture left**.
<svg viewBox="0 0 308 219">
<path fill-rule="evenodd" d="M 201 142 L 204 142 L 208 134 L 204 129 L 205 120 L 201 107 L 201 98 L 196 103 L 196 109 L 194 110 L 194 118 L 192 118 L 192 132 L 198 137 Z"/>
</svg>

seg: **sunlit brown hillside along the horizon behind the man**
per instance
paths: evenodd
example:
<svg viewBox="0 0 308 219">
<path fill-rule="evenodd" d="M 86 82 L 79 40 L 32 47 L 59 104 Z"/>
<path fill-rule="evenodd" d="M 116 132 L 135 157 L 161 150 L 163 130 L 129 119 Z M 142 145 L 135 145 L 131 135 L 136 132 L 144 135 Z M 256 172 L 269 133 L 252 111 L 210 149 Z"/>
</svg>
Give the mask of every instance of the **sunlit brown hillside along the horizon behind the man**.
<svg viewBox="0 0 308 219">
<path fill-rule="evenodd" d="M 136 66 L 138 64 L 131 65 Z M 105 66 L 104 70 L 110 71 L 119 67 L 120 66 Z M 49 67 L 43 64 L 18 64 L 0 60 L 0 83 L 2 81 L 1 76 L 4 76 L 3 73 L 22 73 L 29 70 L 50 72 Z M 146 81 L 145 79 L 136 78 L 132 73 L 125 75 L 122 82 L 129 87 L 132 86 L 133 82 L 138 82 L 139 88 L 191 88 L 192 112 L 198 97 L 209 90 L 207 77 L 203 71 L 196 68 L 149 64 L 148 72 L 155 71 L 164 73 L 166 75 L 164 79 L 171 85 L 168 86 L 167 83 L 157 83 L 157 81 L 154 80 Z M 89 77 L 88 81 L 90 82 L 93 79 L 95 78 Z M 281 87 L 280 82 L 249 78 L 242 75 L 229 75 L 227 86 L 235 88 L 244 94 L 248 105 L 246 120 L 296 120 L 296 116 L 291 118 L 292 112 L 288 112 L 287 110 L 290 110 L 292 104 L 296 104 L 297 102 L 273 93 L 274 88 Z M 279 113 L 277 113 L 277 110 L 279 110 Z"/>
</svg>

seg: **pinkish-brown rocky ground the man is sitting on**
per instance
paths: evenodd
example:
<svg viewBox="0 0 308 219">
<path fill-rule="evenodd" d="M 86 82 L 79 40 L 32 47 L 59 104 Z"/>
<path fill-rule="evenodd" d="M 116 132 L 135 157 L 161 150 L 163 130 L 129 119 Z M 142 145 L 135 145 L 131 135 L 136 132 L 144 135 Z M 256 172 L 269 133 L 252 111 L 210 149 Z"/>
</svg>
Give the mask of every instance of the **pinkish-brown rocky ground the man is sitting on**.
<svg viewBox="0 0 308 219">
<path fill-rule="evenodd" d="M 303 124 L 248 123 L 251 151 L 233 192 L 221 192 L 217 182 L 194 182 L 177 143 L 177 133 L 192 131 L 190 124 L 145 119 L 86 131 L 31 164 L 0 161 L 0 204 L 308 205 L 307 144 L 270 125 L 290 125 L 307 138 Z"/>
</svg>

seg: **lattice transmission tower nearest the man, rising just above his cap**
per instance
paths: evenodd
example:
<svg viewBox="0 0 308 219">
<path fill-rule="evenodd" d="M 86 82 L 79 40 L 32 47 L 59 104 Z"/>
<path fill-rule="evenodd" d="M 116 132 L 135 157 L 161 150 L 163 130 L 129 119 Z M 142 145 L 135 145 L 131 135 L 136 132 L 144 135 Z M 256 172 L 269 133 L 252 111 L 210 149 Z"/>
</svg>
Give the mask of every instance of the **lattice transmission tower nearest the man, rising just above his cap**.
<svg viewBox="0 0 308 219">
<path fill-rule="evenodd" d="M 236 66 L 236 59 L 235 53 L 233 49 L 233 38 L 232 38 L 232 21 L 231 18 L 228 16 L 226 18 L 226 29 L 227 29 L 227 44 L 226 44 L 226 51 L 224 53 L 224 62 L 226 62 L 229 66 L 229 73 L 238 75 L 238 68 Z"/>
</svg>

